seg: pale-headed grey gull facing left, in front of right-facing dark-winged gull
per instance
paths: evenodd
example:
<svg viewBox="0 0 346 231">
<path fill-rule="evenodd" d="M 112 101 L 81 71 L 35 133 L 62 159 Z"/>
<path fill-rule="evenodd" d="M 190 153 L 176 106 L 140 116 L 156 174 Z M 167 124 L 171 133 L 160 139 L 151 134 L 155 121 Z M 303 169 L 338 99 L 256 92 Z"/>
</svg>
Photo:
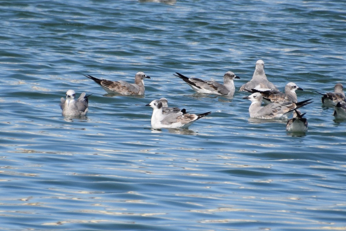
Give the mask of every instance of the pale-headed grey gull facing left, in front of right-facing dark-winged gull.
<svg viewBox="0 0 346 231">
<path fill-rule="evenodd" d="M 248 99 L 252 103 L 249 107 L 250 118 L 257 119 L 287 119 L 289 115 L 293 113 L 296 108 L 301 108 L 304 105 L 309 104 L 311 99 L 305 100 L 299 103 L 293 103 L 292 101 L 284 103 L 270 103 L 264 107 L 261 106 L 263 96 L 259 92 L 255 92 L 249 96 L 243 97 Z"/>
</svg>

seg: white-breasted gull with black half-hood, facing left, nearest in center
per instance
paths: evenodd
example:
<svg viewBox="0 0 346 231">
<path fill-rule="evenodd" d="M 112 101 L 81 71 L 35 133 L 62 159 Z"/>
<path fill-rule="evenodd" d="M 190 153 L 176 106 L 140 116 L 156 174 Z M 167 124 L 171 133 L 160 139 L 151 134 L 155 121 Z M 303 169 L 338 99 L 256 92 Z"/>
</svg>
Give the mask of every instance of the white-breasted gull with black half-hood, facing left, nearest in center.
<svg viewBox="0 0 346 231">
<path fill-rule="evenodd" d="M 162 111 L 162 103 L 160 100 L 153 100 L 146 104 L 153 108 L 151 118 L 151 126 L 153 128 L 188 128 L 196 120 L 209 115 L 211 112 L 202 114 L 183 114 L 182 112 L 165 114 Z"/>
</svg>

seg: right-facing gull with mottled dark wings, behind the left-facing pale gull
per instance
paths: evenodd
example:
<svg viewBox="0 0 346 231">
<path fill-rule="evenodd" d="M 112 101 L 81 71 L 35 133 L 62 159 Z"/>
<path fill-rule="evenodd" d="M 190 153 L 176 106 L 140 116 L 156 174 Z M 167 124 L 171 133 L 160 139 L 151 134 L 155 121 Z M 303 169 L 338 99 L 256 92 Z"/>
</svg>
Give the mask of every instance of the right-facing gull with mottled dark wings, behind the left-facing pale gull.
<svg viewBox="0 0 346 231">
<path fill-rule="evenodd" d="M 298 87 L 297 84 L 291 82 L 286 84 L 284 93 L 280 91 L 276 91 L 276 90 L 261 91 L 256 89 L 252 89 L 251 91 L 248 91 L 248 92 L 251 92 L 251 93 L 260 92 L 263 96 L 263 102 L 265 104 L 272 103 L 272 102 L 283 103 L 287 101 L 298 103 L 297 94 L 295 93 L 296 90 L 303 91 L 301 87 Z"/>
</svg>

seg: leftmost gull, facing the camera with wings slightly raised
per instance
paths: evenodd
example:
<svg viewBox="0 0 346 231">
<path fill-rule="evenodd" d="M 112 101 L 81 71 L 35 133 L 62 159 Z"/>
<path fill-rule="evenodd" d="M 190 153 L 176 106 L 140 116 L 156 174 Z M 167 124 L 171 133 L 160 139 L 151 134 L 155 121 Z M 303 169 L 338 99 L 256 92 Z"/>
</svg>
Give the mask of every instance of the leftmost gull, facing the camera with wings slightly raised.
<svg viewBox="0 0 346 231">
<path fill-rule="evenodd" d="M 91 94 L 90 94 L 91 95 Z M 88 97 L 83 92 L 77 100 L 75 100 L 76 93 L 73 90 L 66 92 L 66 99 L 61 97 L 60 108 L 62 109 L 63 116 L 83 116 L 88 112 Z"/>
</svg>

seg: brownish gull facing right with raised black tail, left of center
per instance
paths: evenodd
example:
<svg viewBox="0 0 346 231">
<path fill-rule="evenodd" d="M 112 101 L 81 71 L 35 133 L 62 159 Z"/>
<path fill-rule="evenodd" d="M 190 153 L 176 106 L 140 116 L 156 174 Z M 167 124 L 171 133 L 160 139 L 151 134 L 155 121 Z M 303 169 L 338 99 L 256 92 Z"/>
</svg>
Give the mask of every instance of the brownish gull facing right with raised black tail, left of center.
<svg viewBox="0 0 346 231">
<path fill-rule="evenodd" d="M 110 94 L 121 94 L 121 95 L 143 95 L 144 94 L 144 79 L 150 78 L 143 72 L 137 72 L 135 75 L 135 83 L 128 83 L 122 80 L 110 81 L 100 80 L 92 77 L 91 75 L 84 75 L 87 78 L 92 79 L 98 83 L 106 92 Z"/>
</svg>

